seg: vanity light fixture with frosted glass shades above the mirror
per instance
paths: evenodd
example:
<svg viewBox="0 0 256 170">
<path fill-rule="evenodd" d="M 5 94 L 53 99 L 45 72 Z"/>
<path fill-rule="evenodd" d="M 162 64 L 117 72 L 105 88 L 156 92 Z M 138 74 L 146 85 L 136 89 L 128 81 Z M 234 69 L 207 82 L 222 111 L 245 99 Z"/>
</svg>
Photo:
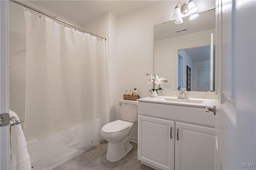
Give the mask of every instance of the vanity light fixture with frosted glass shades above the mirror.
<svg viewBox="0 0 256 170">
<path fill-rule="evenodd" d="M 187 0 L 186 0 L 187 2 Z M 189 0 L 188 4 L 187 3 L 182 4 L 181 2 L 178 2 L 178 4 L 182 4 L 181 8 L 177 6 L 174 8 L 174 13 L 172 15 L 172 19 L 174 19 L 174 23 L 176 24 L 180 24 L 183 22 L 182 20 L 182 15 L 188 14 L 188 15 L 192 15 L 194 14 L 198 8 L 196 7 L 194 0 Z M 198 18 L 199 14 L 194 14 L 192 16 L 189 17 L 190 20 L 194 20 L 196 18 Z"/>
</svg>

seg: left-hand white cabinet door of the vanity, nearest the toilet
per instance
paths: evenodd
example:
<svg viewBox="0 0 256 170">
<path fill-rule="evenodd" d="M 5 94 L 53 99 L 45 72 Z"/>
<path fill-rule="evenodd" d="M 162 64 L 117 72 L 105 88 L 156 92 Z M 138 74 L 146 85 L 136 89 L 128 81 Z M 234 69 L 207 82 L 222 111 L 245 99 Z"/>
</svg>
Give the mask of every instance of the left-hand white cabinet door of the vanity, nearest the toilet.
<svg viewBox="0 0 256 170">
<path fill-rule="evenodd" d="M 138 116 L 138 159 L 162 170 L 174 169 L 175 122 Z"/>
</svg>

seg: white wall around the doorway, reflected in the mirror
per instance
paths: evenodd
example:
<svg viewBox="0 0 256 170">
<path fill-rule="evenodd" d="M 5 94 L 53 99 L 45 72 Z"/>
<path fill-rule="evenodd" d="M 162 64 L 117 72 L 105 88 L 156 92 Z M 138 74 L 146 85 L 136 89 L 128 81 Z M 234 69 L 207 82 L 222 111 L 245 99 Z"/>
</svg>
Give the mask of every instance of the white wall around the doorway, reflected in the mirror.
<svg viewBox="0 0 256 170">
<path fill-rule="evenodd" d="M 210 33 L 215 35 L 215 29 L 155 41 L 154 70 L 156 74 L 167 78 L 170 90 L 178 88 L 178 50 L 210 45 Z M 186 70 L 186 67 L 183 69 Z"/>
</svg>

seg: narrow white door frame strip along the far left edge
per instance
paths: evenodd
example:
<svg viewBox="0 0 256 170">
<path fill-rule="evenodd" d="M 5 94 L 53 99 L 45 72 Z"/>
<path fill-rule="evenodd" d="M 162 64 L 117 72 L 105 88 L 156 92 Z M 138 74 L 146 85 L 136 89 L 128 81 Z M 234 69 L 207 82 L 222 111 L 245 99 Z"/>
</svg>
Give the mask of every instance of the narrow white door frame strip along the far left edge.
<svg viewBox="0 0 256 170">
<path fill-rule="evenodd" d="M 0 1 L 0 112 L 9 113 L 9 80 L 8 80 L 8 1 Z M 8 122 L 6 122 L 8 121 Z M 10 169 L 10 119 L 4 120 L 7 126 L 0 127 L 0 169 Z M 2 123 L 1 123 L 2 124 Z"/>
</svg>

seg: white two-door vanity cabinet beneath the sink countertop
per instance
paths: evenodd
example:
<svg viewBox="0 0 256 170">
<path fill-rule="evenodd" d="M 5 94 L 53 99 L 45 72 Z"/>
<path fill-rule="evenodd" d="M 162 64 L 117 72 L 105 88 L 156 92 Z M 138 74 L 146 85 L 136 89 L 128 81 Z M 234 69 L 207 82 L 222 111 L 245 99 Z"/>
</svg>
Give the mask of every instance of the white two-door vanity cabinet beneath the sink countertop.
<svg viewBox="0 0 256 170">
<path fill-rule="evenodd" d="M 142 164 L 161 170 L 213 170 L 214 116 L 204 110 L 139 101 L 138 159 Z M 189 119 L 193 114 L 199 117 Z"/>
</svg>

